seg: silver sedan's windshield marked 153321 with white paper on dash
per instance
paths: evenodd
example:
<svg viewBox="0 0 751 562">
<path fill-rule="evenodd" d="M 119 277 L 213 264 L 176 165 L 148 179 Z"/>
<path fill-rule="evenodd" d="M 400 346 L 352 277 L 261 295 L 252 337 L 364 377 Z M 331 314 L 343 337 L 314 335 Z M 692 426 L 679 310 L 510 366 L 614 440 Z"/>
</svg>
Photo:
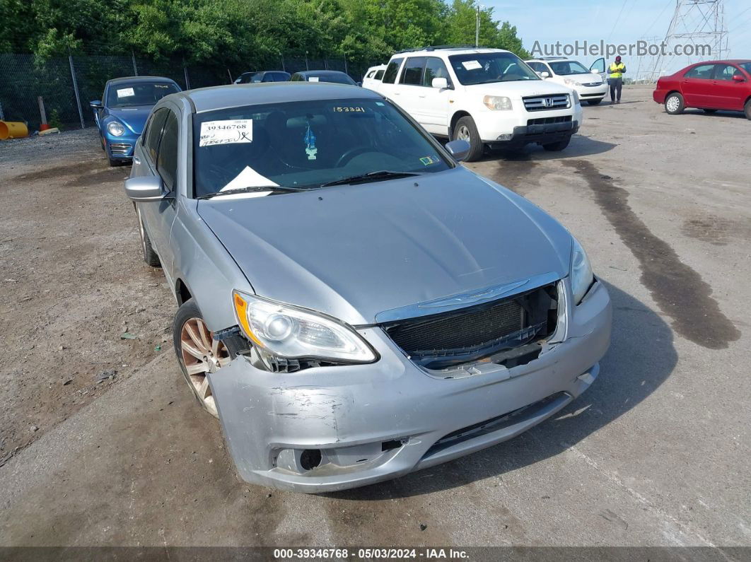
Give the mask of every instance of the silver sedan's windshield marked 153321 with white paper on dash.
<svg viewBox="0 0 751 562">
<path fill-rule="evenodd" d="M 451 164 L 388 101 L 294 101 L 193 116 L 195 196 L 255 186 L 318 188 L 388 170 Z"/>
</svg>

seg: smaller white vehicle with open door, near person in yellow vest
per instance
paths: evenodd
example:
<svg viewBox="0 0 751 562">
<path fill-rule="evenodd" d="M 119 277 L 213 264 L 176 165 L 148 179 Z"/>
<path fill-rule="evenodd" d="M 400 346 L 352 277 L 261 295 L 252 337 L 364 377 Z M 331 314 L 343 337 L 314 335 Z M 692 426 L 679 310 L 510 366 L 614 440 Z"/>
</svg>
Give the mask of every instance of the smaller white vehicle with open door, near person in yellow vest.
<svg viewBox="0 0 751 562">
<path fill-rule="evenodd" d="M 543 80 L 550 80 L 550 82 L 569 86 L 575 90 L 579 99 L 586 101 L 587 104 L 599 104 L 608 93 L 608 83 L 602 79 L 600 71 L 596 70 L 596 68 L 602 68 L 602 71 L 605 71 L 605 59 L 597 59 L 590 68 L 585 67 L 581 62 L 562 57 L 530 59 L 525 62 Z"/>
</svg>

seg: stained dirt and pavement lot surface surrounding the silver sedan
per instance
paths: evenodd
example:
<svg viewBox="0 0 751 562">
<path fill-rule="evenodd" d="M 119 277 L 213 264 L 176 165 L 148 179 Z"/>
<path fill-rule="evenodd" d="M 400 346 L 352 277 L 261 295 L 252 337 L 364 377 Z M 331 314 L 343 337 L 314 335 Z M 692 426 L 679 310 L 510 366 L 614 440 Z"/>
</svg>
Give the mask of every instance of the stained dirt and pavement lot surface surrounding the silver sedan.
<svg viewBox="0 0 751 562">
<path fill-rule="evenodd" d="M 751 545 L 751 123 L 623 100 L 566 152 L 470 165 L 589 251 L 614 301 L 599 380 L 514 440 L 338 494 L 237 480 L 95 131 L 0 144 L 0 544 Z"/>
</svg>

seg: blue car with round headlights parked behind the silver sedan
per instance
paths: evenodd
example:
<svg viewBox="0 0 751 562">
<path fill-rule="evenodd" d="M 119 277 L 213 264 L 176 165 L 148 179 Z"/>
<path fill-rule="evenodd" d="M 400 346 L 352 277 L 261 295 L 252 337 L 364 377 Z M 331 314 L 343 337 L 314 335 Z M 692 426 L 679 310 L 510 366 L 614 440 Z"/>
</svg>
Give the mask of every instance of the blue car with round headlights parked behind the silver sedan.
<svg viewBox="0 0 751 562">
<path fill-rule="evenodd" d="M 90 102 L 99 128 L 101 149 L 110 166 L 131 161 L 133 147 L 154 104 L 167 94 L 180 92 L 174 80 L 158 76 L 108 80 L 101 100 Z"/>
</svg>

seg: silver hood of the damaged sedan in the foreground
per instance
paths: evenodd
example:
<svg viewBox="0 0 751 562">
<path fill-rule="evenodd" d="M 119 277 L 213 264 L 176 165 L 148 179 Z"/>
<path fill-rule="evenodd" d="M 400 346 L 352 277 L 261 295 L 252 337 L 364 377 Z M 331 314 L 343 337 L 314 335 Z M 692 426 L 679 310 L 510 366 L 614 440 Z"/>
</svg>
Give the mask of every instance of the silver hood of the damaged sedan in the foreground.
<svg viewBox="0 0 751 562">
<path fill-rule="evenodd" d="M 415 185 L 417 184 L 417 185 Z M 567 275 L 571 235 L 463 167 L 309 193 L 198 202 L 255 293 L 351 324 L 535 275 Z"/>
</svg>

